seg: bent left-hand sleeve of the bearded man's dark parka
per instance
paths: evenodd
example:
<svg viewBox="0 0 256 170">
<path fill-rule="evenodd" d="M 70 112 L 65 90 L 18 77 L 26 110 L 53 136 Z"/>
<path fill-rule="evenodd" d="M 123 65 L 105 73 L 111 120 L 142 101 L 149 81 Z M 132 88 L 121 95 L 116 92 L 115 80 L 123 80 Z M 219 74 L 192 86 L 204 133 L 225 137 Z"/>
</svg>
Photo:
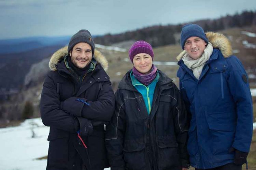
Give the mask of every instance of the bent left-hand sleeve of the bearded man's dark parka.
<svg viewBox="0 0 256 170">
<path fill-rule="evenodd" d="M 60 109 L 59 94 L 53 79 L 47 75 L 41 93 L 40 112 L 42 122 L 45 126 L 76 133 L 80 124 L 75 116 Z"/>
</svg>

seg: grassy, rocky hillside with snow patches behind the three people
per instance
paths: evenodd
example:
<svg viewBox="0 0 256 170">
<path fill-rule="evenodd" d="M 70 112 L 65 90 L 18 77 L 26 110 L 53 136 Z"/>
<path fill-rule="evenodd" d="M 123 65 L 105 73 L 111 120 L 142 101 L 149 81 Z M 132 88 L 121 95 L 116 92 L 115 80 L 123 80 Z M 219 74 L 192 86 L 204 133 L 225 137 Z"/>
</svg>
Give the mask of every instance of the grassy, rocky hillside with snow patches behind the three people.
<svg viewBox="0 0 256 170">
<path fill-rule="evenodd" d="M 248 73 L 251 88 L 256 88 L 256 48 L 254 48 L 256 45 L 256 38 L 254 37 L 256 35 L 256 28 L 232 28 L 221 32 L 230 38 L 234 54 L 242 61 Z M 250 46 L 248 46 L 248 44 L 250 44 Z M 122 50 L 109 50 L 109 48 L 102 47 L 97 49 L 100 50 L 109 61 L 107 73 L 111 78 L 113 89 L 116 90 L 120 79 L 132 68 L 132 64 L 128 58 L 128 51 L 122 52 Z M 178 85 L 179 82 L 176 78 L 176 71 L 178 69 L 176 56 L 181 52 L 180 45 L 156 47 L 154 48 L 154 52 L 154 64 Z M 43 79 L 49 70 L 48 61 L 49 58 L 46 58 L 41 62 L 33 64 L 26 75 L 26 88 L 23 88 L 17 95 L 10 95 L 9 101 L 5 101 L 0 105 L 0 119 L 20 119 L 26 101 L 30 101 L 30 103 L 33 104 L 35 110 L 34 117 L 39 116 L 39 99 Z"/>
</svg>

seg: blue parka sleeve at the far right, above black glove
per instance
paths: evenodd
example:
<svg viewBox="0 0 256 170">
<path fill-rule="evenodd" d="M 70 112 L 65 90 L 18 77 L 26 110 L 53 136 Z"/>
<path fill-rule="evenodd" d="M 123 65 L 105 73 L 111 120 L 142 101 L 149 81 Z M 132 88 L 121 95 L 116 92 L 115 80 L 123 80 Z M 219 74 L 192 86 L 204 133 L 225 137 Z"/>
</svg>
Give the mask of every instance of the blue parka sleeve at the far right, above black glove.
<svg viewBox="0 0 256 170">
<path fill-rule="evenodd" d="M 229 71 L 229 89 L 237 109 L 237 126 L 233 148 L 249 152 L 253 134 L 252 95 L 242 63 L 232 57 Z"/>
</svg>

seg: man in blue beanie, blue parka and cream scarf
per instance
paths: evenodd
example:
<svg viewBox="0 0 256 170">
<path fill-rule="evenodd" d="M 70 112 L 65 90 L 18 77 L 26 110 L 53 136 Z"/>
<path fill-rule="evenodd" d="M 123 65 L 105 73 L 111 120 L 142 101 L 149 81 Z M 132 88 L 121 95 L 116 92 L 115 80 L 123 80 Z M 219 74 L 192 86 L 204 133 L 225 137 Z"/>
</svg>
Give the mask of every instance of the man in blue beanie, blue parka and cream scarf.
<svg viewBox="0 0 256 170">
<path fill-rule="evenodd" d="M 241 170 L 253 132 L 252 96 L 240 60 L 220 33 L 196 24 L 181 31 L 180 90 L 191 114 L 190 165 L 195 170 Z"/>
</svg>

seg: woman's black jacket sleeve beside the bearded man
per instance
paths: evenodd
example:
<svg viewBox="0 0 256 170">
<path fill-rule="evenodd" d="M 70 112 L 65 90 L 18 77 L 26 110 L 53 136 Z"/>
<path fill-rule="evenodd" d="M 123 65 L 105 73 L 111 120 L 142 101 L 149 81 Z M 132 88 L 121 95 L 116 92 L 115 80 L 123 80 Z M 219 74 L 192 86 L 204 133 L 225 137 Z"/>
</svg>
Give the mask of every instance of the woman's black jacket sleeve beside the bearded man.
<svg viewBox="0 0 256 170">
<path fill-rule="evenodd" d="M 105 145 L 111 170 L 125 170 L 123 143 L 126 127 L 124 101 L 115 93 L 115 110 L 110 123 L 106 126 Z"/>
</svg>

